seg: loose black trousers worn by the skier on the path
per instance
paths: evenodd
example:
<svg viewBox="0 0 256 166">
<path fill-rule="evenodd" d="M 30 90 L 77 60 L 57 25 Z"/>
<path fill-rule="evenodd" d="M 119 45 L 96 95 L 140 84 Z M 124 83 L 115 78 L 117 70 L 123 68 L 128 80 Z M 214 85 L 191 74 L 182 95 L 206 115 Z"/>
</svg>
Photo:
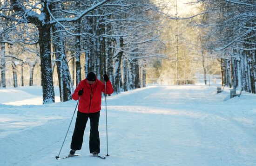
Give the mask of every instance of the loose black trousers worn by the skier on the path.
<svg viewBox="0 0 256 166">
<path fill-rule="evenodd" d="M 100 136 L 99 136 L 99 119 L 100 119 L 100 111 L 91 114 L 85 114 L 77 111 L 77 117 L 75 121 L 74 133 L 72 136 L 72 142 L 70 148 L 72 150 L 80 150 L 83 143 L 83 135 L 86 127 L 86 123 L 90 118 L 90 140 L 89 147 L 90 153 L 98 152 L 100 153 Z"/>
</svg>

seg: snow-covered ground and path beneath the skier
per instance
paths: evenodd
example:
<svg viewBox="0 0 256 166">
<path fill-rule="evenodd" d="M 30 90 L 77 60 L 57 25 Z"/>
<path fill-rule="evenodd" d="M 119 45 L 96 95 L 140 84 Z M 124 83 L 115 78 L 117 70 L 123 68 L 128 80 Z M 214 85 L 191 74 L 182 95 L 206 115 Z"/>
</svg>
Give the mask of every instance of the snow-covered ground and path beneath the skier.
<svg viewBox="0 0 256 166">
<path fill-rule="evenodd" d="M 108 96 L 106 160 L 89 153 L 89 123 L 82 155 L 56 160 L 76 101 L 41 105 L 41 99 L 41 87 L 0 89 L 0 166 L 256 165 L 256 95 L 228 100 L 228 89 L 216 94 L 215 86 L 187 85 Z M 101 156 L 105 118 L 102 100 Z M 69 153 L 73 129 L 74 121 L 60 156 Z"/>
</svg>

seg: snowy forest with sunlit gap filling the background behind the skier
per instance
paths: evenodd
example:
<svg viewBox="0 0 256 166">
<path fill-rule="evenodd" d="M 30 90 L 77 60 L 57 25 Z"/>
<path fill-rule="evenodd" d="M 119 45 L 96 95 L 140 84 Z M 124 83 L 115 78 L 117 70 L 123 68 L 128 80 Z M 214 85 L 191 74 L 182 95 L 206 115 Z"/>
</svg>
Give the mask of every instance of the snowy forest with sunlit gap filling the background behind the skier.
<svg viewBox="0 0 256 166">
<path fill-rule="evenodd" d="M 221 79 L 256 93 L 249 0 L 0 0 L 0 86 L 41 85 L 62 102 L 94 71 L 116 93 Z M 211 76 L 211 78 L 209 77 Z"/>
</svg>

